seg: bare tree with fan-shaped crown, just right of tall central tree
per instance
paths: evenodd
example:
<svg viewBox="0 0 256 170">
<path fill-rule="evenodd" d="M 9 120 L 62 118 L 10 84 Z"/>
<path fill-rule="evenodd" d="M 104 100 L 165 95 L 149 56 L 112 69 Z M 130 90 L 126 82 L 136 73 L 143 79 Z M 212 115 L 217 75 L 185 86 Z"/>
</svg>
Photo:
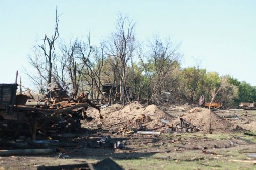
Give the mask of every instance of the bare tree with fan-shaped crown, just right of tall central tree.
<svg viewBox="0 0 256 170">
<path fill-rule="evenodd" d="M 147 104 L 156 98 L 164 79 L 178 66 L 181 57 L 177 52 L 179 46 L 173 45 L 170 39 L 163 43 L 158 36 L 155 36 L 148 45 L 147 54 L 144 54 L 143 49 L 140 48 L 138 56 L 147 80 Z"/>
</svg>

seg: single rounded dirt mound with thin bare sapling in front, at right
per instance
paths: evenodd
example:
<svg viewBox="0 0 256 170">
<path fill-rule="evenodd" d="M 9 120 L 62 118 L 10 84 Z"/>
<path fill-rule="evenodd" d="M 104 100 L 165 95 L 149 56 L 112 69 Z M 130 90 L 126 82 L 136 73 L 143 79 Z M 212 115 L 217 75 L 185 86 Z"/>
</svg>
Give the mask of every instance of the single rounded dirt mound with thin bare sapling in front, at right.
<svg viewBox="0 0 256 170">
<path fill-rule="evenodd" d="M 236 125 L 226 122 L 225 119 L 218 116 L 214 111 L 210 111 L 205 108 L 193 108 L 187 113 L 181 116 L 184 120 L 193 124 L 201 129 L 204 132 L 209 132 L 210 122 L 212 132 L 231 132 L 236 130 Z M 180 120 L 175 119 L 170 124 L 177 124 Z"/>
</svg>

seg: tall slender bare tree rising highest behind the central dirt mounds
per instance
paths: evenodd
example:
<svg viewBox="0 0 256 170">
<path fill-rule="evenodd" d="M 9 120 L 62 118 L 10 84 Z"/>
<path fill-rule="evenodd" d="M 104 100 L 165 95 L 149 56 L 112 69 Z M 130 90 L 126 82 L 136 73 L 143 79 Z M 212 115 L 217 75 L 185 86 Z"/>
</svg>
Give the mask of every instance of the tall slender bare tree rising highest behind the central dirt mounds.
<svg viewBox="0 0 256 170">
<path fill-rule="evenodd" d="M 126 90 L 126 67 L 129 59 L 133 57 L 134 52 L 134 26 L 135 22 L 129 17 L 118 14 L 116 21 L 116 32 L 111 34 L 108 41 L 105 42 L 105 53 L 115 58 L 116 66 L 120 66 L 120 100 L 125 105 Z M 129 99 L 126 99 L 129 100 Z"/>
</svg>

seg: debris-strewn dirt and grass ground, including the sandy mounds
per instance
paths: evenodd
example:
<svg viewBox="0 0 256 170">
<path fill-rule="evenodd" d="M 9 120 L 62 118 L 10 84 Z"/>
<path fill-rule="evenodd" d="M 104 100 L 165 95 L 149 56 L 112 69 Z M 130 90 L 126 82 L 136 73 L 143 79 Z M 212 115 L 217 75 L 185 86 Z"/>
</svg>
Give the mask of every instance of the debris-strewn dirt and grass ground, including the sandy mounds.
<svg viewBox="0 0 256 170">
<path fill-rule="evenodd" d="M 53 152 L 1 156 L 0 169 L 93 164 L 108 157 L 123 169 L 256 168 L 256 111 L 131 103 L 101 108 L 101 115 L 103 120 L 89 108 L 80 131 L 52 134 L 52 142 L 33 146 Z"/>
</svg>

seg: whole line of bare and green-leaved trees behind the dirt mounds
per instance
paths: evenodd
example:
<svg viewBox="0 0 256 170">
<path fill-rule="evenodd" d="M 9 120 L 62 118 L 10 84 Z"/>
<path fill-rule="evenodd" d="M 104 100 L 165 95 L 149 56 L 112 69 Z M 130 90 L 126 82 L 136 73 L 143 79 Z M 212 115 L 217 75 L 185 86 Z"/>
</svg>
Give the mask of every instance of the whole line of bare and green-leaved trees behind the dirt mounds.
<svg viewBox="0 0 256 170">
<path fill-rule="evenodd" d="M 47 84 L 58 82 L 76 97 L 88 92 L 91 100 L 99 102 L 102 86 L 120 86 L 120 102 L 141 100 L 147 104 L 164 102 L 195 104 L 200 96 L 237 107 L 239 102 L 256 100 L 256 89 L 229 75 L 219 76 L 199 66 L 182 68 L 180 44 L 170 38 L 152 36 L 147 42 L 135 37 L 135 21 L 119 13 L 116 30 L 99 45 L 92 45 L 90 33 L 80 38 L 61 40 L 59 16 L 56 10 L 54 33 L 45 35 L 41 44 L 33 47 L 29 62 L 34 72 L 26 71 L 40 93 L 47 92 Z M 133 89 L 136 99 L 129 98 Z M 113 94 L 113 99 L 116 94 Z"/>
</svg>

